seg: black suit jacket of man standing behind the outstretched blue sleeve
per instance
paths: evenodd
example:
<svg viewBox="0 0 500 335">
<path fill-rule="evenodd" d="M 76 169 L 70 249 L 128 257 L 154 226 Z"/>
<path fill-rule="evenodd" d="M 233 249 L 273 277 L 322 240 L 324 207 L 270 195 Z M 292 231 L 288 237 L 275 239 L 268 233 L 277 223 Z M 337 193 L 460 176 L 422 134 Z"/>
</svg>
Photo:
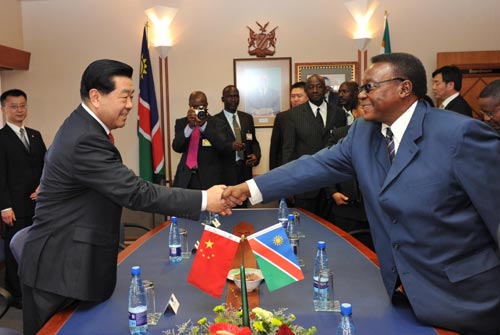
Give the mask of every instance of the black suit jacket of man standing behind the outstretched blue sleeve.
<svg viewBox="0 0 500 335">
<path fill-rule="evenodd" d="M 326 127 L 321 127 L 309 105 L 305 102 L 287 112 L 286 127 L 283 138 L 283 164 L 300 158 L 303 155 L 313 155 L 328 144 L 333 129 L 347 124 L 345 112 L 339 107 L 328 105 Z M 318 195 L 319 190 L 296 195 L 298 198 L 311 199 Z"/>
</svg>

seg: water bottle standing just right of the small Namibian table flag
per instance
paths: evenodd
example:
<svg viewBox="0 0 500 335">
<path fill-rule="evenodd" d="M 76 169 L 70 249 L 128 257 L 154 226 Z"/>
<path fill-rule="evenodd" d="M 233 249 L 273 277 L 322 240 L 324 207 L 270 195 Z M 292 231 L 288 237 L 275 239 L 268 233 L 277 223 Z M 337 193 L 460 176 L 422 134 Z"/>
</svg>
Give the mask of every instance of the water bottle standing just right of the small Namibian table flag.
<svg viewBox="0 0 500 335">
<path fill-rule="evenodd" d="M 326 278 L 323 281 L 319 279 L 319 273 L 322 270 L 329 270 L 329 268 L 326 243 L 324 241 L 319 241 L 313 268 L 313 304 L 314 310 L 316 311 L 327 311 L 330 310 L 329 304 L 333 306 L 333 301 L 326 301 L 326 297 L 330 295 L 329 292 L 325 292 L 325 290 L 329 290 L 331 283 L 325 281 Z"/>
</svg>

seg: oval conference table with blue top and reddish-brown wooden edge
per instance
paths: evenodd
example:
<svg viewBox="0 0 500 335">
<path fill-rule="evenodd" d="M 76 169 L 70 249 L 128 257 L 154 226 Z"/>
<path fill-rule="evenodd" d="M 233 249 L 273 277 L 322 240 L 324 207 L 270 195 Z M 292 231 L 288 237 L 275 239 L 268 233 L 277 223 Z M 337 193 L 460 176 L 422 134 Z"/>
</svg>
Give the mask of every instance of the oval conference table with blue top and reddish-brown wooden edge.
<svg viewBox="0 0 500 335">
<path fill-rule="evenodd" d="M 203 216 L 203 215 L 202 215 Z M 201 238 L 203 226 L 199 222 L 178 220 L 188 230 L 190 244 Z M 276 209 L 234 210 L 233 215 L 222 217 L 222 229 L 232 231 L 235 224 L 247 221 L 255 231 L 277 221 Z M 274 292 L 265 283 L 259 287 L 261 307 L 267 310 L 287 307 L 297 316 L 296 323 L 303 327 L 315 326 L 317 334 L 331 334 L 340 318 L 338 313 L 315 312 L 312 303 L 312 265 L 318 240 L 326 241 L 330 267 L 334 273 L 335 299 L 353 305 L 353 319 L 358 335 L 362 334 L 454 334 L 418 323 L 409 305 L 394 306 L 382 284 L 376 256 L 347 233 L 301 211 L 300 256 L 306 267 L 305 279 Z M 212 319 L 212 309 L 226 301 L 211 297 L 187 283 L 193 258 L 178 264 L 168 261 L 168 224 L 164 223 L 138 239 L 119 256 L 116 288 L 110 299 L 89 307 L 81 304 L 75 311 L 55 315 L 40 334 L 127 334 L 128 288 L 130 268 L 141 266 L 143 279 L 153 280 L 156 305 L 164 308 L 171 293 L 180 301 L 177 315 L 164 315 L 157 326 L 149 327 L 149 334 L 163 334 L 191 319 L 196 322 L 206 316 Z"/>
</svg>

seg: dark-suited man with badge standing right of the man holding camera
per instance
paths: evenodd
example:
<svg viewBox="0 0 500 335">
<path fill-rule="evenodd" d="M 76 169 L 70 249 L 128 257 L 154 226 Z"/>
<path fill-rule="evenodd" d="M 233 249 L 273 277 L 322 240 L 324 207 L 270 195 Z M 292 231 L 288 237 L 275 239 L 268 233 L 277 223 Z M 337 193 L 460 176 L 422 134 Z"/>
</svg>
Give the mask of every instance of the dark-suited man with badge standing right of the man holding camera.
<svg viewBox="0 0 500 335">
<path fill-rule="evenodd" d="M 238 110 L 240 92 L 236 86 L 224 87 L 221 99 L 224 110 L 214 117 L 224 122 L 224 136 L 232 149 L 223 156 L 224 184 L 236 185 L 252 178 L 253 167 L 260 162 L 260 144 L 255 136 L 253 117 Z"/>
</svg>

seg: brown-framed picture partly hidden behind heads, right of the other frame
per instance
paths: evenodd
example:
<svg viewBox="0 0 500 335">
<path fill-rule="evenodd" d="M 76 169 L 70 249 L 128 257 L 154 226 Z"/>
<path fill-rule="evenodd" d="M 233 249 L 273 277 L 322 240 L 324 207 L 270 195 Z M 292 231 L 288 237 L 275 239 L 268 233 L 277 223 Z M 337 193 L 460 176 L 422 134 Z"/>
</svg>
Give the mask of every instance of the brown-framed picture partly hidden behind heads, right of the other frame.
<svg viewBox="0 0 500 335">
<path fill-rule="evenodd" d="M 295 63 L 296 81 L 306 81 L 313 74 L 325 77 L 326 85 L 334 91 L 346 80 L 359 83 L 358 62 Z"/>
</svg>

